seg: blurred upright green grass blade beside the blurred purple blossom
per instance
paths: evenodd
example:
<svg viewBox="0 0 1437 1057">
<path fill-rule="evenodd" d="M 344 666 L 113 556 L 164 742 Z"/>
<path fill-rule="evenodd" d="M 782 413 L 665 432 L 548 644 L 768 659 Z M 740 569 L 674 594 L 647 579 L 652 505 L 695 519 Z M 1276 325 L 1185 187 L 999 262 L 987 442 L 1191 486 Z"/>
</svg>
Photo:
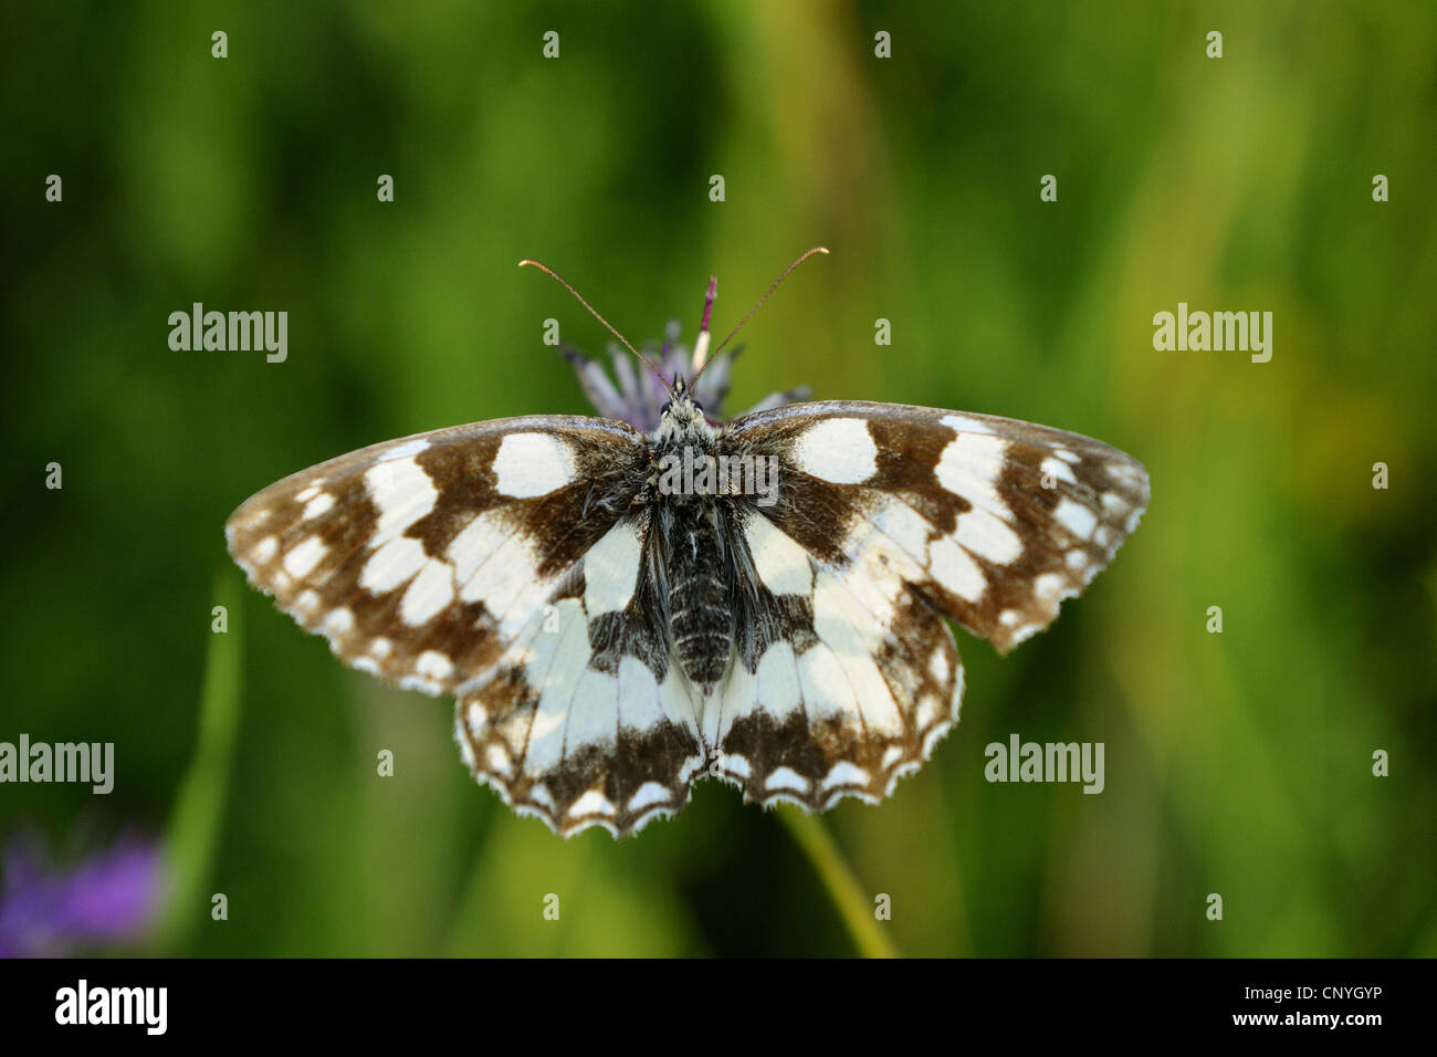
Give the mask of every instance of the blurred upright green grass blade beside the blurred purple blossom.
<svg viewBox="0 0 1437 1057">
<path fill-rule="evenodd" d="M 223 569 L 216 578 L 214 604 L 224 607 L 228 630 L 208 631 L 194 756 L 180 784 L 165 838 L 170 902 L 161 942 L 170 952 L 184 946 L 210 905 L 203 886 L 214 861 L 240 725 L 243 598 L 234 569 Z"/>
</svg>

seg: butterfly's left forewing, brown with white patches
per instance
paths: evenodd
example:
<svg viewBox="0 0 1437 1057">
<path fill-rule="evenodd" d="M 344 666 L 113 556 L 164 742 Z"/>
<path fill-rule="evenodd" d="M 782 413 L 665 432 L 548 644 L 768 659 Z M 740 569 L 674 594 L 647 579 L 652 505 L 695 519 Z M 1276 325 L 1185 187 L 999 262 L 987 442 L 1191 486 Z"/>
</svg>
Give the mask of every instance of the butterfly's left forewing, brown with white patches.
<svg viewBox="0 0 1437 1057">
<path fill-rule="evenodd" d="M 621 423 L 546 416 L 366 447 L 228 519 L 250 582 L 346 663 L 430 693 L 483 674 L 628 511 L 648 473 Z"/>
</svg>

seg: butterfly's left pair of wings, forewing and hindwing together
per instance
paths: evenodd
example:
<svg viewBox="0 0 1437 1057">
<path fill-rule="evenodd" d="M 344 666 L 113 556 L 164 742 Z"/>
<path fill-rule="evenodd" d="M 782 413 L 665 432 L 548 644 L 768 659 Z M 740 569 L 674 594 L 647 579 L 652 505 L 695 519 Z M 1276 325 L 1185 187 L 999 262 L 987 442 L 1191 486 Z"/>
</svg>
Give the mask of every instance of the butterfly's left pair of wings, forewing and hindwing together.
<svg viewBox="0 0 1437 1057">
<path fill-rule="evenodd" d="M 703 759 L 642 595 L 650 472 L 621 423 L 479 423 L 302 470 L 226 536 L 346 664 L 456 693 L 460 749 L 507 802 L 560 833 L 624 830 L 681 807 Z"/>
</svg>

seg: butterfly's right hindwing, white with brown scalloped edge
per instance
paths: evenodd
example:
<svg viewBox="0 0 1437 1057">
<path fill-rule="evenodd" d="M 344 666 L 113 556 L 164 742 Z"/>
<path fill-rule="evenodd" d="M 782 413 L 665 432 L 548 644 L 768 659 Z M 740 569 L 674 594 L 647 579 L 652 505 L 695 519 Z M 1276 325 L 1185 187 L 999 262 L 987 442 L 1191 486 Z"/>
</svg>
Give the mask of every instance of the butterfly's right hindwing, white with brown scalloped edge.
<svg viewBox="0 0 1437 1057">
<path fill-rule="evenodd" d="M 901 569 L 821 562 L 763 513 L 729 680 L 706 710 L 714 774 L 750 801 L 882 800 L 957 722 L 953 633 Z"/>
</svg>

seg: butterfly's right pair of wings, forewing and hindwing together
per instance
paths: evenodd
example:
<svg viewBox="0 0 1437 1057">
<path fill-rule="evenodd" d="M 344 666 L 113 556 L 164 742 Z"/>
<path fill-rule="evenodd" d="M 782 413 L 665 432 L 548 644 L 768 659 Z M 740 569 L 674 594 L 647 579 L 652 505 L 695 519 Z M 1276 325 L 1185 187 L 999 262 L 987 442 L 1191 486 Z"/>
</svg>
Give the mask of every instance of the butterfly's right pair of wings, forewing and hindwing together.
<svg viewBox="0 0 1437 1057">
<path fill-rule="evenodd" d="M 941 617 L 1013 649 L 1148 502 L 1122 452 L 992 416 L 795 404 L 734 420 L 724 446 L 780 469 L 777 502 L 753 505 L 743 534 L 743 605 L 760 630 L 740 640 L 706 736 L 749 798 L 810 810 L 882 798 L 957 722 L 963 673 Z"/>
</svg>

